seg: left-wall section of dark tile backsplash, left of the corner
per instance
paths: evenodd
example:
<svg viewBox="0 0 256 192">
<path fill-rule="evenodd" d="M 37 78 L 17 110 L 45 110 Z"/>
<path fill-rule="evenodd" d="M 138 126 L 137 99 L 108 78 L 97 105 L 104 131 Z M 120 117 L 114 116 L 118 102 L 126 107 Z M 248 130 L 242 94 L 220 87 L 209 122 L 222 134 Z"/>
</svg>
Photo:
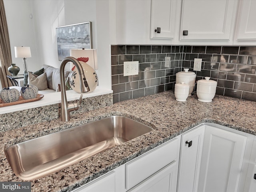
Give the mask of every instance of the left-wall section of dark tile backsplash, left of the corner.
<svg viewBox="0 0 256 192">
<path fill-rule="evenodd" d="M 183 46 L 112 45 L 113 100 L 120 102 L 174 88 L 182 68 Z M 166 64 L 166 57 L 170 59 Z M 124 61 L 138 61 L 139 74 L 124 76 Z"/>
</svg>

